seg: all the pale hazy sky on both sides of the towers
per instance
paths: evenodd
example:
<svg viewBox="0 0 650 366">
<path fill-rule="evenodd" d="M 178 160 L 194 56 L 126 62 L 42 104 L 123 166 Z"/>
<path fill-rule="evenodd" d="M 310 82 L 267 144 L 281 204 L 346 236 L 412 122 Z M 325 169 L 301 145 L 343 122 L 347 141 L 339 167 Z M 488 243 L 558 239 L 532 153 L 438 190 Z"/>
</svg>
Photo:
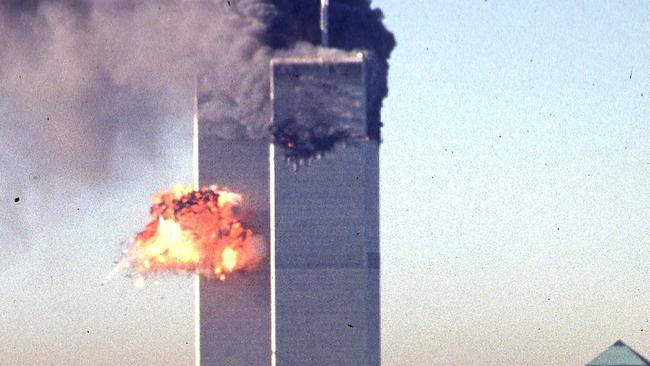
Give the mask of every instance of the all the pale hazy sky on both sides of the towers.
<svg viewBox="0 0 650 366">
<path fill-rule="evenodd" d="M 374 1 L 398 41 L 383 364 L 580 365 L 619 338 L 650 355 L 650 3 L 571 3 Z M 0 137 L 29 182 L 3 212 L 41 212 L 0 259 L 0 364 L 193 362 L 191 279 L 102 285 L 151 193 L 192 180 L 190 123 L 170 116 L 155 158 L 121 149 L 118 185 L 56 195 Z"/>
</svg>

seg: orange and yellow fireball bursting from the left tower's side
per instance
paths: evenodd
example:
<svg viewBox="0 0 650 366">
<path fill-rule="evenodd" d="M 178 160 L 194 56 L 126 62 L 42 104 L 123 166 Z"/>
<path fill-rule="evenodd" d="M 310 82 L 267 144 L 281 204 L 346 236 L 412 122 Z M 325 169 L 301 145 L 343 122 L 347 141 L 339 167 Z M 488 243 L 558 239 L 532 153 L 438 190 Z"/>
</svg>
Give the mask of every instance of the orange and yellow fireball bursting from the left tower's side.
<svg viewBox="0 0 650 366">
<path fill-rule="evenodd" d="M 217 186 L 175 185 L 157 193 L 151 218 L 131 241 L 127 256 L 146 275 L 196 272 L 225 280 L 261 259 L 259 238 L 239 221 L 241 196 Z"/>
</svg>

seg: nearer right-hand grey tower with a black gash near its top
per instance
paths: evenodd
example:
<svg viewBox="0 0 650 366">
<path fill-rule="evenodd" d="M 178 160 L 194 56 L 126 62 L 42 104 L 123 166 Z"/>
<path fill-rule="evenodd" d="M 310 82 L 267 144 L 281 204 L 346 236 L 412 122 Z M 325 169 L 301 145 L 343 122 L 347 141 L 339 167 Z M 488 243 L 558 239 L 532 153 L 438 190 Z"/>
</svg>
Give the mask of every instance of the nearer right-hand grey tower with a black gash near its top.
<svg viewBox="0 0 650 366">
<path fill-rule="evenodd" d="M 362 54 L 274 59 L 274 124 L 355 142 L 294 169 L 271 147 L 271 306 L 278 365 L 379 365 L 378 143 Z"/>
</svg>

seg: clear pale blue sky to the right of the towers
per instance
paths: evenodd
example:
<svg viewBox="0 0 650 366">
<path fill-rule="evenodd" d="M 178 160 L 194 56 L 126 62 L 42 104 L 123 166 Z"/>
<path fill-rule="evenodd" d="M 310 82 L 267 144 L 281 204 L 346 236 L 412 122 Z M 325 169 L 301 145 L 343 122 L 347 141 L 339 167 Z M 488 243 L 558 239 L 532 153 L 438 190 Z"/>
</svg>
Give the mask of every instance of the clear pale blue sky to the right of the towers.
<svg viewBox="0 0 650 366">
<path fill-rule="evenodd" d="M 650 351 L 648 3 L 375 4 L 383 361 Z"/>
</svg>

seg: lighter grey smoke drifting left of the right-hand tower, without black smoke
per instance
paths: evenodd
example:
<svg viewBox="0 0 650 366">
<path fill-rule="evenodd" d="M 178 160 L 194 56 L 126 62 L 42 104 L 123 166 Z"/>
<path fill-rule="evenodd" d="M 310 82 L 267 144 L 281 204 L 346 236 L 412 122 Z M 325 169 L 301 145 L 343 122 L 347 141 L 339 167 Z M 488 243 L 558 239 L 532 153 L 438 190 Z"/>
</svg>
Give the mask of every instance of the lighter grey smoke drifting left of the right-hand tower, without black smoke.
<svg viewBox="0 0 650 366">
<path fill-rule="evenodd" d="M 275 8 L 230 3 L 5 5 L 0 85 L 7 127 L 39 146 L 35 158 L 59 156 L 53 168 L 92 175 L 122 131 L 143 153 L 152 151 L 160 121 L 191 108 L 197 75 L 209 82 L 207 90 L 202 83 L 209 119 L 259 126 L 268 119 L 271 55 L 263 35 Z"/>
</svg>

